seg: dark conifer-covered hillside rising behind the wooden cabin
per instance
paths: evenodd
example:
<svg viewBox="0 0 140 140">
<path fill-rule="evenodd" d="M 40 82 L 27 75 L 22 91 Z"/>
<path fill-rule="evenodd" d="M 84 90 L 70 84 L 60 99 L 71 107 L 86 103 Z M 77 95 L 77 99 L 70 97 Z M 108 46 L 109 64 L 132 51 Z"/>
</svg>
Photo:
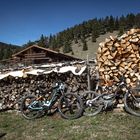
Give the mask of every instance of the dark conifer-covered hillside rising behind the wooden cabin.
<svg viewBox="0 0 140 140">
<path fill-rule="evenodd" d="M 24 44 L 23 47 L 37 44 L 55 51 L 61 51 L 63 53 L 81 57 L 89 49 L 89 46 L 97 46 L 95 43 L 96 41 L 98 43 L 98 41 L 101 40 L 100 36 L 105 37 L 106 34 L 114 32 L 115 35 L 116 33 L 117 35 L 121 35 L 131 28 L 140 28 L 140 13 L 131 13 L 126 16 L 122 15 L 121 17 L 106 16 L 104 18 L 94 18 L 71 28 L 67 28 L 55 35 L 51 34 L 50 36 L 45 36 L 42 34 L 39 40 L 34 42 L 29 41 Z M 104 40 L 105 38 L 102 39 Z M 1 44 L 1 46 L 0 59 L 8 58 L 14 51 L 17 51 L 17 47 L 14 46 L 4 47 L 4 44 Z M 77 55 L 75 46 L 80 47 L 81 56 Z M 93 46 L 93 50 L 94 49 Z"/>
</svg>

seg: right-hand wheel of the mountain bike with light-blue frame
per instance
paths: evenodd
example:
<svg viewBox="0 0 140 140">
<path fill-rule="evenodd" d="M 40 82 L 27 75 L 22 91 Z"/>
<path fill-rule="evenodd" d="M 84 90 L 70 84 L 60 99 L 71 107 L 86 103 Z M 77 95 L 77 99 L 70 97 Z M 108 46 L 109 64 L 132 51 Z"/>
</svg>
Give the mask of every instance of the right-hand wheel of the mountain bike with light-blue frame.
<svg viewBox="0 0 140 140">
<path fill-rule="evenodd" d="M 58 110 L 65 119 L 76 119 L 82 115 L 83 102 L 81 98 L 73 93 L 61 96 L 58 103 Z"/>
</svg>

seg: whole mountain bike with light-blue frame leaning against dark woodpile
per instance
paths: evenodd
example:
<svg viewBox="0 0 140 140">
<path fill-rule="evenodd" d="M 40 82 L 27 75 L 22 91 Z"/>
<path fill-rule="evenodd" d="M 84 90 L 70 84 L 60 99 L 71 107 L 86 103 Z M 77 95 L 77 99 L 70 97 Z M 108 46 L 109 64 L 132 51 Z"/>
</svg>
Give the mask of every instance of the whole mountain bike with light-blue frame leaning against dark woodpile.
<svg viewBox="0 0 140 140">
<path fill-rule="evenodd" d="M 26 119 L 35 119 L 44 112 L 49 112 L 55 104 L 61 116 L 65 119 L 76 119 L 83 112 L 83 102 L 81 98 L 73 93 L 66 93 L 63 82 L 56 82 L 52 87 L 49 97 L 45 97 L 46 90 L 39 89 L 39 96 L 28 95 L 22 99 L 21 113 Z"/>
</svg>

